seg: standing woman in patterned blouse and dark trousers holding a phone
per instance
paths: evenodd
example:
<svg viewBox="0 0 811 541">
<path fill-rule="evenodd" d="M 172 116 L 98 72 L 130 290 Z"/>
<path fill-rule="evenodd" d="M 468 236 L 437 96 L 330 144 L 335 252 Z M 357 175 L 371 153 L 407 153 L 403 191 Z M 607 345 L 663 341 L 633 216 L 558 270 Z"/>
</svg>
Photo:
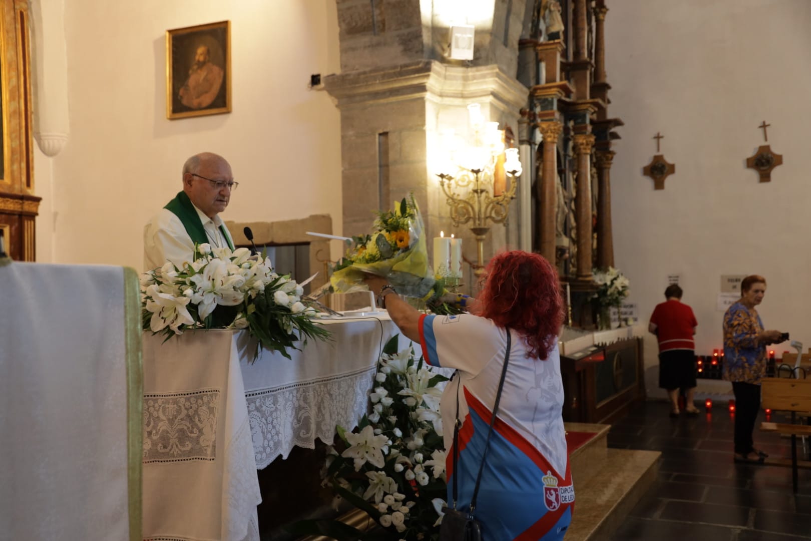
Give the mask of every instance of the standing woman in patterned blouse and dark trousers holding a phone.
<svg viewBox="0 0 811 541">
<path fill-rule="evenodd" d="M 723 316 L 724 379 L 735 393 L 735 462 L 763 462 L 766 453 L 753 447 L 752 432 L 760 410 L 760 384 L 766 374 L 766 346 L 780 341 L 780 331 L 763 330 L 755 307 L 766 294 L 766 278 L 753 274 L 740 282 L 740 299 Z"/>
</svg>

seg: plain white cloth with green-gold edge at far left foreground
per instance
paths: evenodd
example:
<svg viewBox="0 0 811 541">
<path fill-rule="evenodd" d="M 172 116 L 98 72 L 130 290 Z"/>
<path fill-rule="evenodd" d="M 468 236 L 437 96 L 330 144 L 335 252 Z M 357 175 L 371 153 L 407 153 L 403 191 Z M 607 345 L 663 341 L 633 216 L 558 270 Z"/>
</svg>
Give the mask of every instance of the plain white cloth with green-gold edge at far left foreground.
<svg viewBox="0 0 811 541">
<path fill-rule="evenodd" d="M 0 539 L 141 539 L 138 294 L 130 268 L 0 264 Z"/>
</svg>

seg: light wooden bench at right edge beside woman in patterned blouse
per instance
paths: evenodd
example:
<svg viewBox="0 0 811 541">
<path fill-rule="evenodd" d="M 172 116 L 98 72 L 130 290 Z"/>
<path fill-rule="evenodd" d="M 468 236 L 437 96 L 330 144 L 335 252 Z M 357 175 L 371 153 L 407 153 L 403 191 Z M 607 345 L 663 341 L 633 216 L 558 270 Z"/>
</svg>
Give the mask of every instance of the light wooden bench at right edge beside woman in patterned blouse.
<svg viewBox="0 0 811 541">
<path fill-rule="evenodd" d="M 811 436 L 811 426 L 798 423 L 797 412 L 811 411 L 811 380 L 763 378 L 761 406 L 773 412 L 792 412 L 791 423 L 761 423 L 761 430 L 792 436 L 792 483 L 797 492 L 797 436 Z"/>
</svg>

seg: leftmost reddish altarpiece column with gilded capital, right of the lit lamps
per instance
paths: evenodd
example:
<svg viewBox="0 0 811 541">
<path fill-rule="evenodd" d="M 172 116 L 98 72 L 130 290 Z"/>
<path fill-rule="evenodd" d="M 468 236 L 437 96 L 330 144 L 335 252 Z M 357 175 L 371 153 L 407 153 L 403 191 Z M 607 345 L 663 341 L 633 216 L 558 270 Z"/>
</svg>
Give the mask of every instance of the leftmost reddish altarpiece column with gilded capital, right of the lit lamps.
<svg viewBox="0 0 811 541">
<path fill-rule="evenodd" d="M 543 135 L 543 171 L 540 182 L 538 182 L 541 255 L 547 258 L 551 264 L 555 264 L 556 148 L 563 124 L 557 121 L 539 122 L 538 129 Z M 579 223 L 577 227 L 580 227 Z"/>
</svg>

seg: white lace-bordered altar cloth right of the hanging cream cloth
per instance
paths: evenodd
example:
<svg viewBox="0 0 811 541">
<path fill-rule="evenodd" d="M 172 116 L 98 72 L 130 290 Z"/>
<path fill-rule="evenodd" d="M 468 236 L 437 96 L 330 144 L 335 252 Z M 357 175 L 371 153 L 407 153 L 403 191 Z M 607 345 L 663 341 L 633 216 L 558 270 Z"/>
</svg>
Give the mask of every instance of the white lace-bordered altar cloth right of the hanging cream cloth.
<svg viewBox="0 0 811 541">
<path fill-rule="evenodd" d="M 399 333 L 385 312 L 322 323 L 332 339 L 310 341 L 303 351 L 290 351 L 292 360 L 263 350 L 251 364 L 247 333 L 238 338 L 260 470 L 279 456 L 286 458 L 294 446 L 315 449 L 316 438 L 331 444 L 336 425 L 356 427 L 367 410 L 382 348 Z M 398 346 L 402 350 L 410 343 L 401 336 Z"/>
</svg>

